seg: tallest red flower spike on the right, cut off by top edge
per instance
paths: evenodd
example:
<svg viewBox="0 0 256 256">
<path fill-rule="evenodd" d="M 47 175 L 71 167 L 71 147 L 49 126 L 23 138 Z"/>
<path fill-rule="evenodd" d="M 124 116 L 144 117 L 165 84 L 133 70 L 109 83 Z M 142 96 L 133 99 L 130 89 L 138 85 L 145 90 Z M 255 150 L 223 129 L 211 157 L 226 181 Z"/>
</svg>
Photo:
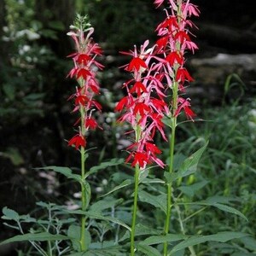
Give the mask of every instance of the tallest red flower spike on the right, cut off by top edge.
<svg viewBox="0 0 256 256">
<path fill-rule="evenodd" d="M 200 12 L 194 4 L 189 3 L 189 0 L 168 2 L 170 10 L 166 9 L 166 19 L 156 27 L 157 35 L 160 37 L 156 42 L 156 54 L 161 56 L 157 71 L 162 73 L 162 78 L 166 78 L 167 85 L 174 95 L 172 117 L 177 117 L 183 110 L 187 118 L 193 120 L 195 113 L 190 108 L 189 98 L 183 98 L 178 92 L 184 93 L 184 83 L 194 80 L 184 67 L 184 54 L 187 49 L 193 53 L 198 49 L 189 35 L 189 29 L 195 26 L 189 17 L 198 16 Z M 155 0 L 154 3 L 158 8 L 164 0 Z"/>
</svg>

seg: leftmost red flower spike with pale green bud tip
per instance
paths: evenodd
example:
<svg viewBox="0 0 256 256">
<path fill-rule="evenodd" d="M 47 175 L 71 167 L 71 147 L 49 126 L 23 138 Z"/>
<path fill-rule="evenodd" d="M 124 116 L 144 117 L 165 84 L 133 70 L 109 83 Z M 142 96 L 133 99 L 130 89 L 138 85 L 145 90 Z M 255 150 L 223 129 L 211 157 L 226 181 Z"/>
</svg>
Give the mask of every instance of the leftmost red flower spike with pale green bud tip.
<svg viewBox="0 0 256 256">
<path fill-rule="evenodd" d="M 79 84 L 76 92 L 69 97 L 69 99 L 74 99 L 73 112 L 79 111 L 80 116 L 75 122 L 75 125 L 79 125 L 79 131 L 68 142 L 69 146 L 75 146 L 76 149 L 85 148 L 86 131 L 98 127 L 96 119 L 92 117 L 92 112 L 95 109 L 102 109 L 94 96 L 99 94 L 96 69 L 103 68 L 102 64 L 96 61 L 96 56 L 102 55 L 102 49 L 90 38 L 94 29 L 88 23 L 84 25 L 84 20 L 79 18 L 78 26 L 71 26 L 72 31 L 67 33 L 73 38 L 77 49 L 75 53 L 68 56 L 73 58 L 74 67 L 67 75 L 67 77 L 76 79 Z"/>
</svg>

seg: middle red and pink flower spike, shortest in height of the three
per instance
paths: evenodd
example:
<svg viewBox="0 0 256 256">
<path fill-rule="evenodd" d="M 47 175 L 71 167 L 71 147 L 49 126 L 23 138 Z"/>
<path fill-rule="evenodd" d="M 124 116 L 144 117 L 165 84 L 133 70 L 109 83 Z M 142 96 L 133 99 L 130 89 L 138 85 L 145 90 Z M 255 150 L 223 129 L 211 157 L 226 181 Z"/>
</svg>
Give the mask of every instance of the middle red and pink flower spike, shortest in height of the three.
<svg viewBox="0 0 256 256">
<path fill-rule="evenodd" d="M 126 161 L 131 161 L 131 166 L 138 165 L 141 168 L 152 162 L 161 167 L 165 166 L 157 157 L 161 151 L 154 144 L 154 135 L 155 131 L 160 131 L 166 139 L 161 119 L 168 108 L 162 93 L 164 86 L 154 73 L 154 62 L 151 63 L 154 48 L 147 49 L 148 43 L 146 41 L 140 51 L 135 47 L 134 51 L 122 52 L 132 56 L 130 63 L 125 65 L 125 70 L 133 78 L 124 84 L 127 96 L 115 108 L 119 112 L 125 110 L 119 121 L 130 123 L 135 132 L 135 141 L 127 148 L 131 153 Z"/>
</svg>

